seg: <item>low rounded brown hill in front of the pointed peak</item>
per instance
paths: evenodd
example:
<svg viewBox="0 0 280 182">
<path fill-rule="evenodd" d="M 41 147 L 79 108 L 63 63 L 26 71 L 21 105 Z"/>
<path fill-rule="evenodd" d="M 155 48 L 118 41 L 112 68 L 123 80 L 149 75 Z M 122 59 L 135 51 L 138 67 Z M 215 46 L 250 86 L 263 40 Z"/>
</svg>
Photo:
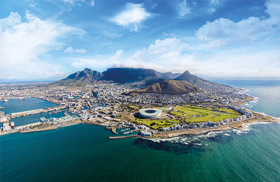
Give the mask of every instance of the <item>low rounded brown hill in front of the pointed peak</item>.
<svg viewBox="0 0 280 182">
<path fill-rule="evenodd" d="M 199 91 L 197 87 L 187 81 L 166 80 L 161 83 L 157 83 L 148 86 L 144 89 L 137 89 L 127 92 L 126 94 L 134 95 L 136 93 L 168 93 L 168 94 L 185 94 L 189 92 Z"/>
</svg>

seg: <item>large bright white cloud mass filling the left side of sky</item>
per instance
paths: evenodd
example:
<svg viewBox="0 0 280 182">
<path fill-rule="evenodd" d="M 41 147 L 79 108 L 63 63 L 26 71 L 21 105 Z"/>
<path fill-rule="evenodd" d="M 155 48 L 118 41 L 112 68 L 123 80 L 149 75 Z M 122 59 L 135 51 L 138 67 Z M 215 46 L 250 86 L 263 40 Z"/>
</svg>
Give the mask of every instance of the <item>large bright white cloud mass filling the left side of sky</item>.
<svg viewBox="0 0 280 182">
<path fill-rule="evenodd" d="M 61 38 L 83 31 L 61 22 L 42 20 L 26 13 L 29 22 L 23 22 L 17 12 L 0 19 L 0 77 L 11 75 L 21 79 L 30 76 L 44 78 L 61 75 L 61 67 L 40 57 L 63 45 Z M 6 71 L 8 70 L 8 71 Z"/>
</svg>

